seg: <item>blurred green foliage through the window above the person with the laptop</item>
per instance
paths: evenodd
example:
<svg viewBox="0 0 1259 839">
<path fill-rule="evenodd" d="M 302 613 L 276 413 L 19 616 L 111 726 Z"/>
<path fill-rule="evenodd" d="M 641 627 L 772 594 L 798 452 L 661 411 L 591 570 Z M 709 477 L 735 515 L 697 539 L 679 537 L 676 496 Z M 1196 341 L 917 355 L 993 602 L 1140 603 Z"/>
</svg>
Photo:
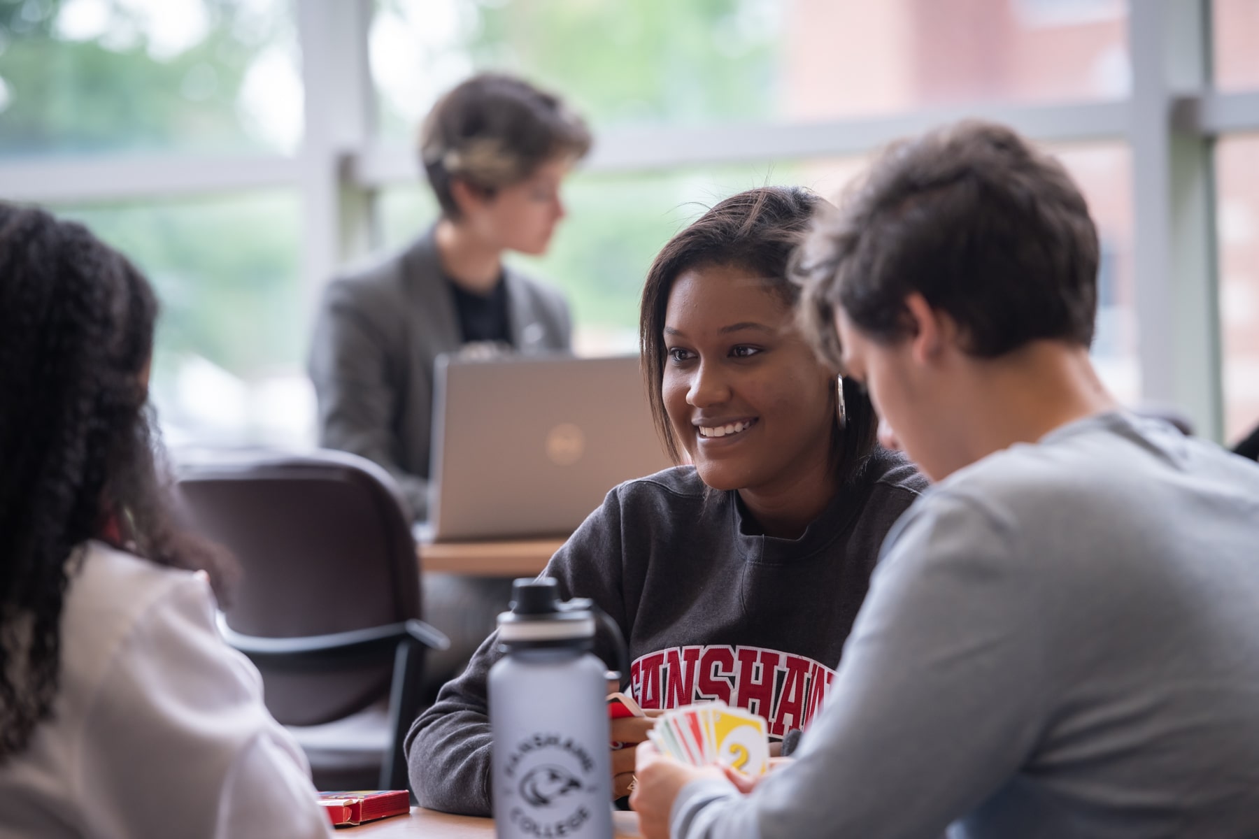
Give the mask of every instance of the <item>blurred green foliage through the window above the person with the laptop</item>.
<svg viewBox="0 0 1259 839">
<path fill-rule="evenodd" d="M 598 127 L 771 111 L 773 0 L 481 0 L 473 63 L 563 91 Z"/>
</svg>

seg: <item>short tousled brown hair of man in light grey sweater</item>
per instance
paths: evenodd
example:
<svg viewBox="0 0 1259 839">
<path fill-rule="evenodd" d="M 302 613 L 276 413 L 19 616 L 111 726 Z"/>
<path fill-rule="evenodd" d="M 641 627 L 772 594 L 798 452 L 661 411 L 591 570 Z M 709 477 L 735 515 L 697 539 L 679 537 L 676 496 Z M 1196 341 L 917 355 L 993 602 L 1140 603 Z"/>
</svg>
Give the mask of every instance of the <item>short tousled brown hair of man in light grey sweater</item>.
<svg viewBox="0 0 1259 839">
<path fill-rule="evenodd" d="M 909 335 L 918 292 L 992 358 L 1039 338 L 1088 347 L 1098 234 L 1063 165 L 1012 130 L 964 121 L 889 146 L 821 214 L 793 263 L 802 316 L 822 353 L 833 312 L 881 341 Z"/>
</svg>

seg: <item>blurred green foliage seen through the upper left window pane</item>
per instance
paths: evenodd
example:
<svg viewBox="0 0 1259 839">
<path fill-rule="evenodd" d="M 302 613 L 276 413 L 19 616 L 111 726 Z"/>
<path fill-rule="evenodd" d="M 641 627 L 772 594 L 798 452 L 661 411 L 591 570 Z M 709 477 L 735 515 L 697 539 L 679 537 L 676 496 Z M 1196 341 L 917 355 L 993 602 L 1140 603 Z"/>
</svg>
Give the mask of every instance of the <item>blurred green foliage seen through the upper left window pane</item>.
<svg viewBox="0 0 1259 839">
<path fill-rule="evenodd" d="M 0 155 L 262 147 L 238 96 L 278 16 L 200 1 L 204 36 L 162 55 L 133 4 L 93 0 L 103 31 L 77 40 L 58 25 L 67 0 L 0 0 Z"/>
</svg>

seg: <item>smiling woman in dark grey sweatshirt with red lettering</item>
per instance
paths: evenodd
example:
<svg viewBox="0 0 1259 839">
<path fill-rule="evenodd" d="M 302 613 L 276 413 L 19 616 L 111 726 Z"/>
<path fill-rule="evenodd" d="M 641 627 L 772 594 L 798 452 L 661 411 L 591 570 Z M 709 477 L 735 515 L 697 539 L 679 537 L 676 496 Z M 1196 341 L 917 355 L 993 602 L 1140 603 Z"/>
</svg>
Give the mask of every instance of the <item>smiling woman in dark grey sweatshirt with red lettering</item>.
<svg viewBox="0 0 1259 839">
<path fill-rule="evenodd" d="M 544 572 L 617 621 L 643 708 L 719 698 L 776 738 L 821 707 L 879 545 L 925 487 L 875 444 L 870 401 L 794 323 L 787 258 L 820 203 L 781 187 L 735 195 L 656 258 L 643 369 L 666 443 L 694 465 L 614 488 Z M 616 660 L 606 640 L 599 652 Z M 491 635 L 412 727 L 423 806 L 490 814 L 486 674 L 500 655 Z M 617 723 L 622 796 L 650 721 Z"/>
</svg>

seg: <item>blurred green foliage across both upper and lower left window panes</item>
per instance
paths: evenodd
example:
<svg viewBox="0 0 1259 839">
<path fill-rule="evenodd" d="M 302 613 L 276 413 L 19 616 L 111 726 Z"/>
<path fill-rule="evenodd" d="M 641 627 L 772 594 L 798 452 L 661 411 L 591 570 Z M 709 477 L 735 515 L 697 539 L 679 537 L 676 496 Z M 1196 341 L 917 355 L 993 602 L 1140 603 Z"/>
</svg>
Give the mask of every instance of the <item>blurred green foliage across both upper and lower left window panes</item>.
<svg viewBox="0 0 1259 839">
<path fill-rule="evenodd" d="M 274 14 L 259 14 L 257 3 L 200 0 L 203 36 L 162 55 L 136 4 L 92 1 L 104 28 L 76 40 L 58 20 L 69 1 L 0 0 L 0 155 L 262 147 L 242 126 L 238 97 L 251 63 L 277 38 Z M 189 355 L 243 379 L 301 362 L 295 195 L 52 209 L 87 224 L 155 284 L 164 308 L 159 384 Z"/>
</svg>

